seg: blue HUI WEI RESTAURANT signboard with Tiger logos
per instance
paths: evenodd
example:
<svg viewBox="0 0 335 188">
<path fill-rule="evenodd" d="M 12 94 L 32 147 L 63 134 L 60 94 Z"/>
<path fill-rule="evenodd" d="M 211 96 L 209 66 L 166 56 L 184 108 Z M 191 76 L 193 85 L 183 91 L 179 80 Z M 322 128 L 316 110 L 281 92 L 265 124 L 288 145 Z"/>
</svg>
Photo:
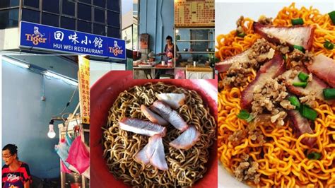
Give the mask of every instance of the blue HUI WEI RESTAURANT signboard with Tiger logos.
<svg viewBox="0 0 335 188">
<path fill-rule="evenodd" d="M 126 59 L 124 40 L 24 21 L 20 23 L 20 46 Z"/>
</svg>

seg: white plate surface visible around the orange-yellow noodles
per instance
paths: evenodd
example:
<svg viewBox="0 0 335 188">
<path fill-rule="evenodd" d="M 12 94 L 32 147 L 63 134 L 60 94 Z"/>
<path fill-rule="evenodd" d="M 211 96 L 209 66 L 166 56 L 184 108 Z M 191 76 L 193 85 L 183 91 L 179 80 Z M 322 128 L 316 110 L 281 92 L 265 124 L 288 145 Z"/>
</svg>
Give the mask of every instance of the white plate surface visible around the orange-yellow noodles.
<svg viewBox="0 0 335 188">
<path fill-rule="evenodd" d="M 253 20 L 258 20 L 259 16 L 264 15 L 266 17 L 276 18 L 278 11 L 280 11 L 284 6 L 290 6 L 291 2 L 286 1 L 286 3 L 280 2 L 218 2 L 216 0 L 216 36 L 220 34 L 228 34 L 231 30 L 236 29 L 236 20 L 240 16 L 245 16 L 252 18 Z M 334 11 L 335 6 L 332 1 L 322 1 L 322 2 L 297 2 L 295 4 L 296 8 L 305 6 L 309 8 L 318 8 L 320 13 L 329 13 Z M 218 187 L 247 187 L 246 184 L 239 182 L 238 180 L 230 175 L 227 170 L 223 168 L 221 162 L 219 161 L 218 167 Z"/>
</svg>

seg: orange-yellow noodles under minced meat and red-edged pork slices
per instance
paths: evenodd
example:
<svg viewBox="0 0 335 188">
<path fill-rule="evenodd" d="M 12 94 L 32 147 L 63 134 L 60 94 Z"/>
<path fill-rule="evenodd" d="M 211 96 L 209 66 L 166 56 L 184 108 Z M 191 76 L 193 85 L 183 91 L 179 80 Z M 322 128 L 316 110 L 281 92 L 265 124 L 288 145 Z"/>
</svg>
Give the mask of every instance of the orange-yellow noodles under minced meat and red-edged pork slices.
<svg viewBox="0 0 335 188">
<path fill-rule="evenodd" d="M 323 47 L 325 40 L 335 43 L 335 26 L 327 13 L 321 14 L 315 8 L 295 8 L 295 4 L 284 7 L 274 19 L 274 25 L 290 26 L 292 18 L 302 18 L 304 25 L 315 25 L 314 42 L 311 51 L 314 54 L 324 54 L 335 59 L 335 49 Z M 233 30 L 228 35 L 218 35 L 216 57 L 224 60 L 248 49 L 260 37 L 252 30 L 253 20 L 243 20 L 244 39 L 236 37 Z M 253 72 L 248 77 L 250 83 L 255 76 Z M 225 74 L 219 74 L 221 80 Z M 219 88 L 223 86 L 219 82 Z M 257 127 L 266 139 L 263 146 L 242 139 L 233 145 L 228 137 L 234 131 L 247 129 L 247 123 L 236 118 L 240 112 L 240 98 L 243 88 L 224 88 L 218 93 L 218 159 L 228 172 L 233 172 L 244 154 L 249 154 L 259 163 L 257 172 L 261 173 L 259 184 L 248 181 L 253 187 L 335 187 L 335 105 L 318 103 L 315 110 L 318 117 L 315 120 L 315 134 L 302 134 L 297 137 L 293 132 L 292 122 L 286 122 L 283 127 L 272 124 L 262 124 Z M 301 143 L 306 137 L 317 139 L 315 148 L 309 148 Z M 309 160 L 305 153 L 319 152 L 322 158 Z M 220 178 L 220 177 L 219 177 Z"/>
</svg>

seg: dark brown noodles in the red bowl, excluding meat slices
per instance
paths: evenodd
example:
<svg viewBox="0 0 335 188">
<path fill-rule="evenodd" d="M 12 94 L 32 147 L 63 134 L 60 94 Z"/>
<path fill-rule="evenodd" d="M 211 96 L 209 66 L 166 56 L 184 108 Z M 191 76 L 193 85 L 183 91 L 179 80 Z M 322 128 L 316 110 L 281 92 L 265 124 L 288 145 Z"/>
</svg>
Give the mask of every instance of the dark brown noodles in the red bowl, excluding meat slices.
<svg viewBox="0 0 335 188">
<path fill-rule="evenodd" d="M 194 125 L 201 133 L 195 146 L 187 151 L 178 150 L 170 147 L 169 143 L 180 135 L 180 131 L 172 126 L 167 127 L 163 144 L 169 170 L 165 171 L 134 161 L 134 155 L 148 143 L 148 136 L 119 129 L 119 120 L 124 117 L 148 120 L 141 113 L 140 106 L 152 105 L 157 100 L 157 93 L 184 93 L 186 101 L 178 112 L 187 124 Z M 208 149 L 216 139 L 216 121 L 201 96 L 194 90 L 164 83 L 147 83 L 120 93 L 110 108 L 108 122 L 103 129 L 102 146 L 108 168 L 114 177 L 132 187 L 192 186 L 206 172 Z"/>
</svg>

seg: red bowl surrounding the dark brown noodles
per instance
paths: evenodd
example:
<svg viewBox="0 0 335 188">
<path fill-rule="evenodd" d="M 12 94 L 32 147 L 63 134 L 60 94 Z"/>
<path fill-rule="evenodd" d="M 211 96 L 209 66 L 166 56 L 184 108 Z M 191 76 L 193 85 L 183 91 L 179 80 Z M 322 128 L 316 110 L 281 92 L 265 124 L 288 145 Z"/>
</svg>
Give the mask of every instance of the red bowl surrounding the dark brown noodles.
<svg viewBox="0 0 335 188">
<path fill-rule="evenodd" d="M 107 122 L 107 114 L 119 93 L 133 86 L 158 81 L 196 90 L 204 102 L 208 104 L 216 119 L 218 117 L 218 81 L 213 80 L 137 80 L 132 71 L 110 71 L 102 76 L 90 89 L 90 187 L 128 187 L 124 182 L 116 180 L 109 172 L 102 157 L 102 129 Z M 217 143 L 211 146 L 211 155 L 207 163 L 208 171 L 194 187 L 218 187 Z"/>
</svg>

